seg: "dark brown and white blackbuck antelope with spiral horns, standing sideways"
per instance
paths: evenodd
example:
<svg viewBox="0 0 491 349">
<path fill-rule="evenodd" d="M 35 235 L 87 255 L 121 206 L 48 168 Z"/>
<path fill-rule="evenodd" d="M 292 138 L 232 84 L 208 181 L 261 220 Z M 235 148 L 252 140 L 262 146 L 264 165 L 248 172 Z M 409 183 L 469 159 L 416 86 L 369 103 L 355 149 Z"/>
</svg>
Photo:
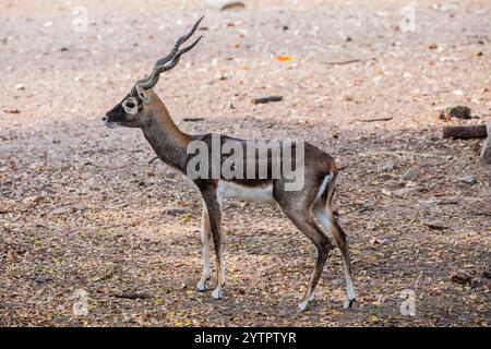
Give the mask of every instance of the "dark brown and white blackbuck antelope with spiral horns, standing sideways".
<svg viewBox="0 0 491 349">
<path fill-rule="evenodd" d="M 276 142 L 277 148 L 271 146 L 272 143 L 264 142 L 263 145 L 267 145 L 265 152 L 262 152 L 264 149 L 261 146 L 259 152 L 256 152 L 258 147 L 252 147 L 251 152 L 250 145 L 256 145 L 254 141 L 243 141 L 218 134 L 191 135 L 184 133 L 172 121 L 166 106 L 153 91 L 160 74 L 175 68 L 181 56 L 200 41 L 201 37 L 192 45 L 180 48 L 194 34 L 202 20 L 200 19 L 194 24 L 190 33 L 177 40 L 169 55 L 155 63 L 149 75 L 137 81 L 121 103 L 106 113 L 103 118 L 104 123 L 108 128 L 142 129 L 145 139 L 157 156 L 165 164 L 181 172 L 200 191 L 203 197 L 201 228 L 203 275 L 197 282 L 199 290 L 206 290 L 206 282 L 211 277 L 209 242 L 213 239 L 217 263 L 217 284 L 212 297 L 219 299 L 223 296 L 225 267 L 220 231 L 221 201 L 224 197 L 233 197 L 276 203 L 294 225 L 315 245 L 318 258 L 307 292 L 299 303 L 301 310 L 304 310 L 308 302 L 313 299 L 322 269 L 333 249 L 331 239 L 314 220 L 316 217 L 334 237 L 340 249 L 348 294 L 345 308 L 350 308 L 355 301 L 355 290 L 351 281 L 348 240 L 332 208 L 338 171 L 334 159 L 307 142 Z M 225 156 L 224 148 L 228 148 L 225 153 L 233 155 L 233 161 L 230 161 L 230 157 Z M 205 155 L 201 154 L 200 157 L 196 155 L 196 149 L 203 151 L 201 153 Z M 196 158 L 200 161 L 196 161 Z M 233 176 L 224 172 L 227 164 Z M 252 166 L 250 166 L 251 164 Z M 284 169 L 283 172 L 277 171 L 279 167 Z M 296 181 L 300 185 L 292 185 L 295 184 L 291 182 L 292 177 L 287 176 L 286 168 L 294 169 L 294 174 L 300 177 Z M 209 176 L 209 173 L 212 174 Z"/>
</svg>

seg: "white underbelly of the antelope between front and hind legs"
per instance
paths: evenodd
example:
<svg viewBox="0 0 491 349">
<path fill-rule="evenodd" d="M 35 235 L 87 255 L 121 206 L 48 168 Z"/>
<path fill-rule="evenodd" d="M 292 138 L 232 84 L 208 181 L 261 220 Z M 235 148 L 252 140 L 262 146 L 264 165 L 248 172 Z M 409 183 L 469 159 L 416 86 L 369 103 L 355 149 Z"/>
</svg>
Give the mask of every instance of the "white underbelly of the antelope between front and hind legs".
<svg viewBox="0 0 491 349">
<path fill-rule="evenodd" d="M 218 192 L 224 198 L 244 200 L 253 203 L 274 203 L 273 184 L 247 186 L 221 180 L 218 182 Z"/>
</svg>

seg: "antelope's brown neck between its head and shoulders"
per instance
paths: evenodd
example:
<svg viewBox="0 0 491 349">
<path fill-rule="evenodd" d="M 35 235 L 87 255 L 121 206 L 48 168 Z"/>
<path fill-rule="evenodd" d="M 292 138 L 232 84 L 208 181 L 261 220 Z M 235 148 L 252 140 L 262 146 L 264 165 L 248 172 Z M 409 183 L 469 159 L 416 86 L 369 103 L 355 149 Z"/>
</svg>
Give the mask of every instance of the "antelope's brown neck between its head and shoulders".
<svg viewBox="0 0 491 349">
<path fill-rule="evenodd" d="M 145 139 L 164 163 L 183 171 L 191 136 L 177 127 L 160 100 L 154 106 L 152 117 L 142 128 Z"/>
</svg>

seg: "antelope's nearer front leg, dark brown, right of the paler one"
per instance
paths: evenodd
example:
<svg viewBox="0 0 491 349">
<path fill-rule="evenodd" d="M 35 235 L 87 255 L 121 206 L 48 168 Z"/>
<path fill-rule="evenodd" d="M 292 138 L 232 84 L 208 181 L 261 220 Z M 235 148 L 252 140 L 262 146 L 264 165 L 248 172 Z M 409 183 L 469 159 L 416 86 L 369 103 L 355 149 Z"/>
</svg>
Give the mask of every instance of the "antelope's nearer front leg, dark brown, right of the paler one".
<svg viewBox="0 0 491 349">
<path fill-rule="evenodd" d="M 216 255 L 217 284 L 212 292 L 214 299 L 220 299 L 225 285 L 225 266 L 221 253 L 221 205 L 215 186 L 202 191 L 203 200 L 206 204 L 209 219 L 209 230 L 212 232 Z"/>
</svg>

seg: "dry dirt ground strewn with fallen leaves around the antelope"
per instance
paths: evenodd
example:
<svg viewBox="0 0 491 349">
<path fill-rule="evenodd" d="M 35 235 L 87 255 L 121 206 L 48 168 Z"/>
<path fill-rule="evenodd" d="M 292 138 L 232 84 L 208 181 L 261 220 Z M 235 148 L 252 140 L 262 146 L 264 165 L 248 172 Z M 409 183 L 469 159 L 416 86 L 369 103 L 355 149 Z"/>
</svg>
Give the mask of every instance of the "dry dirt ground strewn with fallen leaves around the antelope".
<svg viewBox="0 0 491 349">
<path fill-rule="evenodd" d="M 1 2 L 0 325 L 490 325 L 491 167 L 482 141 L 441 139 L 436 110 L 491 120 L 491 3 L 415 1 L 414 27 L 399 0 L 246 3 Z M 100 121 L 201 14 L 204 40 L 156 92 L 190 133 L 309 140 L 348 166 L 336 207 L 352 310 L 335 251 L 299 312 L 313 245 L 275 207 L 241 202 L 226 202 L 225 298 L 197 292 L 199 195 L 148 165 L 139 130 Z M 251 103 L 267 95 L 284 99 Z M 117 297 L 132 292 L 147 298 Z"/>
</svg>

